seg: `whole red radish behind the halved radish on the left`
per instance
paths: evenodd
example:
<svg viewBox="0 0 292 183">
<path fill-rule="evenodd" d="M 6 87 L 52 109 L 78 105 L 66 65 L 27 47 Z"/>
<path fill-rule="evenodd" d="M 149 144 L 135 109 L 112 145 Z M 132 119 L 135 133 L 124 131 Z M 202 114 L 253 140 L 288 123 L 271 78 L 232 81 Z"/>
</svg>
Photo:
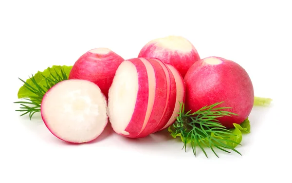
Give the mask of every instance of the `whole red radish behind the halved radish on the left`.
<svg viewBox="0 0 292 183">
<path fill-rule="evenodd" d="M 122 61 L 124 59 L 109 48 L 91 49 L 74 63 L 69 79 L 92 81 L 108 97 L 114 74 Z"/>
</svg>

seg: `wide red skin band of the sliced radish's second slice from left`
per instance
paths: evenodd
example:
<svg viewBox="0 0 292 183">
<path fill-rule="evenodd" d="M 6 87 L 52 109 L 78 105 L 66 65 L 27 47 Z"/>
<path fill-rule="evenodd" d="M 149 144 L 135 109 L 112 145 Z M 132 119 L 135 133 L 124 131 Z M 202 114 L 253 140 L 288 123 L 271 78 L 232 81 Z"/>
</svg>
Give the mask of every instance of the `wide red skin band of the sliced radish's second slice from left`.
<svg viewBox="0 0 292 183">
<path fill-rule="evenodd" d="M 151 134 L 154 130 L 154 128 L 158 125 L 160 122 L 161 117 L 163 116 L 164 113 L 164 107 L 166 105 L 166 99 L 167 99 L 167 81 L 166 81 L 166 75 L 164 72 L 163 67 L 158 63 L 156 59 L 145 59 L 145 58 L 139 58 L 142 61 L 149 62 L 148 64 L 151 64 L 153 67 L 154 72 L 149 73 L 153 74 L 155 77 L 155 82 L 156 83 L 155 87 L 153 88 L 155 90 L 155 97 L 154 97 L 154 103 L 152 107 L 152 112 L 149 117 L 149 120 L 145 126 L 145 128 L 140 132 L 140 134 L 137 136 L 137 138 L 142 138 L 146 137 L 149 134 Z M 150 77 L 149 77 L 150 80 Z M 152 103 L 151 103 L 152 104 Z M 148 103 L 148 107 L 149 107 Z"/>
</svg>

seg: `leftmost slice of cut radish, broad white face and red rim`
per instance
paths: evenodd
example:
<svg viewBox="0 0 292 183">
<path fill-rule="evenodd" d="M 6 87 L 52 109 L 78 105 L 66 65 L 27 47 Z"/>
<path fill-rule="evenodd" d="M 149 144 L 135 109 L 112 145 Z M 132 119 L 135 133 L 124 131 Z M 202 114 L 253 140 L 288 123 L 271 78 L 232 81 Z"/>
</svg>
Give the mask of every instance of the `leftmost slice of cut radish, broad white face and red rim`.
<svg viewBox="0 0 292 183">
<path fill-rule="evenodd" d="M 123 61 L 113 78 L 109 90 L 108 116 L 113 130 L 123 136 L 135 138 L 146 126 L 152 101 L 154 81 L 148 81 L 147 68 L 140 59 Z"/>
</svg>

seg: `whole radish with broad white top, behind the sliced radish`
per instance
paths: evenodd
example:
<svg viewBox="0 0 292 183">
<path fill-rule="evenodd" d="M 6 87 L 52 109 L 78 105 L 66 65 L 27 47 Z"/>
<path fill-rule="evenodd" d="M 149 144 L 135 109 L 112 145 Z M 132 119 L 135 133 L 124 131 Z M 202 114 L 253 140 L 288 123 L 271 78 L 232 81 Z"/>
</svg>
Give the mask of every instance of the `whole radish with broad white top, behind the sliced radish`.
<svg viewBox="0 0 292 183">
<path fill-rule="evenodd" d="M 138 57 L 157 58 L 171 63 L 184 77 L 190 66 L 200 60 L 194 45 L 181 36 L 168 36 L 149 41 Z"/>
</svg>

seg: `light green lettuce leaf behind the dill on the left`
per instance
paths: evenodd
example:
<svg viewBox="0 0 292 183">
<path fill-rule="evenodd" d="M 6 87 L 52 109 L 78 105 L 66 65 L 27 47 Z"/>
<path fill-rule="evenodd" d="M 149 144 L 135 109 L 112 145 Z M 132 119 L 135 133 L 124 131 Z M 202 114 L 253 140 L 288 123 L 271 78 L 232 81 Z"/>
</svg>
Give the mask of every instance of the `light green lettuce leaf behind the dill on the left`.
<svg viewBox="0 0 292 183">
<path fill-rule="evenodd" d="M 70 71 L 72 69 L 72 66 L 66 66 L 66 65 L 53 65 L 52 67 L 48 67 L 47 69 L 45 69 L 44 71 L 38 71 L 35 75 L 33 75 L 35 82 L 40 85 L 40 86 L 46 86 L 46 78 L 45 77 L 50 77 L 50 74 L 56 76 L 56 75 L 60 75 L 62 76 L 62 70 L 64 71 L 64 73 L 69 76 Z M 31 78 L 26 80 L 26 83 L 29 84 L 30 86 L 32 86 L 33 88 L 36 87 L 36 83 L 35 83 Z M 44 90 L 47 90 L 45 87 L 43 87 Z M 35 93 L 33 93 L 31 90 L 29 90 L 27 87 L 25 87 L 24 85 L 21 86 L 18 90 L 18 99 L 22 99 L 22 98 L 32 98 L 32 97 L 37 97 L 37 95 Z"/>
</svg>

